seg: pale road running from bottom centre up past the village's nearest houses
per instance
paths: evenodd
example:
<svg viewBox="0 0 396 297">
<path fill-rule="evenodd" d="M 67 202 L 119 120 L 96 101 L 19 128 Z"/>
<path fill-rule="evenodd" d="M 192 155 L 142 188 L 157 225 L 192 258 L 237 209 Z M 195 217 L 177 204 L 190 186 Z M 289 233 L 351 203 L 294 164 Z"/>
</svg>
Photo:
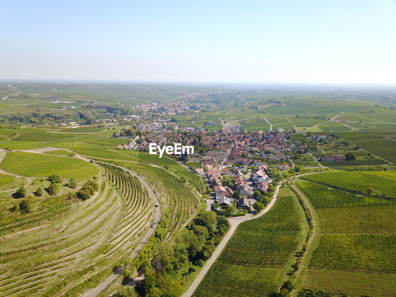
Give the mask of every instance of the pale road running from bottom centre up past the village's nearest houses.
<svg viewBox="0 0 396 297">
<path fill-rule="evenodd" d="M 230 230 L 224 236 L 223 240 L 221 240 L 220 244 L 217 246 L 217 248 L 213 252 L 213 255 L 210 257 L 208 262 L 206 262 L 206 264 L 204 265 L 204 267 L 202 268 L 202 270 L 200 271 L 200 273 L 198 274 L 198 276 L 196 277 L 194 282 L 192 282 L 191 286 L 188 288 L 186 293 L 184 293 L 183 297 L 190 297 L 192 295 L 192 293 L 194 293 L 196 287 L 198 287 L 199 283 L 204 278 L 206 272 L 208 272 L 209 268 L 212 266 L 212 264 L 215 262 L 217 257 L 220 255 L 221 251 L 227 244 L 228 240 L 231 238 L 232 234 L 234 234 L 236 227 L 241 222 L 249 221 L 251 219 L 260 217 L 261 215 L 265 214 L 268 210 L 270 210 L 272 208 L 272 206 L 274 205 L 274 203 L 276 201 L 276 198 L 278 197 L 279 188 L 282 184 L 283 184 L 283 182 L 279 183 L 279 185 L 275 189 L 274 196 L 273 196 L 271 202 L 268 203 L 267 207 L 263 211 L 261 211 L 261 213 L 259 213 L 258 215 L 255 215 L 253 217 L 253 211 L 251 211 L 251 213 L 248 213 L 247 215 L 245 215 L 243 217 L 233 217 L 233 218 L 228 219 L 228 221 L 230 221 L 230 224 L 231 224 Z"/>
</svg>

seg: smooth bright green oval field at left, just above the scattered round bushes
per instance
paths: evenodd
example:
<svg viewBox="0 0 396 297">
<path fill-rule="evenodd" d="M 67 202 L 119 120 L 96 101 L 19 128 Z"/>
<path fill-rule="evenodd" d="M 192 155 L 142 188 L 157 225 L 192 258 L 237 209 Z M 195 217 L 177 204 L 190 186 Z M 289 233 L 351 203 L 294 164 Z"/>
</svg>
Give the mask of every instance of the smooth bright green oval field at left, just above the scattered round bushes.
<svg viewBox="0 0 396 297">
<path fill-rule="evenodd" d="M 75 177 L 79 181 L 99 173 L 94 165 L 84 160 L 29 152 L 8 152 L 1 166 L 7 171 L 23 176 L 48 177 L 57 173 L 65 179 Z"/>
</svg>

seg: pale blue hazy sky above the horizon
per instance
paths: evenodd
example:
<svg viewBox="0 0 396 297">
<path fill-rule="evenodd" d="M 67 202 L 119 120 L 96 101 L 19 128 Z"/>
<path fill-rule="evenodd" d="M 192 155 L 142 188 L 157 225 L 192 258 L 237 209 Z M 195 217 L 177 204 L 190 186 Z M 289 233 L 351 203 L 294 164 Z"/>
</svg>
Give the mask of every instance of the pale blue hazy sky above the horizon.
<svg viewBox="0 0 396 297">
<path fill-rule="evenodd" d="M 396 83 L 395 0 L 0 0 L 0 79 Z"/>
</svg>

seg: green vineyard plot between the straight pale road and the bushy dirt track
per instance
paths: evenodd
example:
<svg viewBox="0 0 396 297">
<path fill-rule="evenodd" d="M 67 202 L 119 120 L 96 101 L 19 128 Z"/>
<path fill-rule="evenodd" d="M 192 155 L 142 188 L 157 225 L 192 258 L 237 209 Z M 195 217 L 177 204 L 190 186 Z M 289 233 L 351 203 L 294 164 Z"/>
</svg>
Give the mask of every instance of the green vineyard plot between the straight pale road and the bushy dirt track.
<svg viewBox="0 0 396 297">
<path fill-rule="evenodd" d="M 299 248 L 303 219 L 297 204 L 293 196 L 280 196 L 265 215 L 240 223 L 192 296 L 257 297 L 274 292 Z"/>
</svg>

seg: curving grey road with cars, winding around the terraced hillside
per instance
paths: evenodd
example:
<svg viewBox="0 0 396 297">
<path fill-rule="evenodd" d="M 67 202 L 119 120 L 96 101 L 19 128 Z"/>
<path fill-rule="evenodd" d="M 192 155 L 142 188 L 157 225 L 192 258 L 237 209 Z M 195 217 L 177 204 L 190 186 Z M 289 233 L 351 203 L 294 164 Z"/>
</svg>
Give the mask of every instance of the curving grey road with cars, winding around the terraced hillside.
<svg viewBox="0 0 396 297">
<path fill-rule="evenodd" d="M 112 166 L 115 166 L 114 164 L 111 164 Z M 154 194 L 154 192 L 152 191 L 152 189 L 150 188 L 150 186 L 148 185 L 148 183 L 142 179 L 139 175 L 133 173 L 132 171 L 130 171 L 129 169 L 123 168 L 121 166 L 115 166 L 118 168 L 121 168 L 123 170 L 128 171 L 131 175 L 133 175 L 134 177 L 136 177 L 137 179 L 139 179 L 139 181 L 142 183 L 142 185 L 144 187 L 147 188 L 148 194 L 150 194 L 154 204 L 159 203 L 157 196 Z M 160 211 L 160 207 L 156 207 L 155 208 L 155 216 L 154 216 L 154 221 L 156 223 L 158 223 L 158 221 L 160 220 L 161 217 L 161 211 Z M 148 230 L 148 232 L 146 233 L 146 235 L 142 238 L 141 242 L 138 244 L 138 246 L 135 248 L 135 250 L 131 253 L 131 255 L 129 256 L 131 259 L 133 259 L 134 257 L 137 256 L 137 254 L 139 253 L 139 251 L 141 251 L 141 249 L 143 248 L 143 246 L 147 243 L 148 238 L 154 233 L 155 228 L 157 227 L 157 225 L 155 225 L 154 227 L 150 228 Z M 99 293 L 101 293 L 101 291 L 103 291 L 104 289 L 106 289 L 107 286 L 109 286 L 118 276 L 118 274 L 120 274 L 122 272 L 122 270 L 115 272 L 114 274 L 110 275 L 109 278 L 107 280 L 105 280 L 103 283 L 101 283 L 99 286 L 95 287 L 95 289 L 92 289 L 91 291 L 88 291 L 87 293 L 85 293 L 84 295 L 82 295 L 83 297 L 96 297 L 97 295 L 99 295 Z M 139 281 L 140 279 L 135 279 L 131 281 L 131 284 L 137 281 Z"/>
</svg>

